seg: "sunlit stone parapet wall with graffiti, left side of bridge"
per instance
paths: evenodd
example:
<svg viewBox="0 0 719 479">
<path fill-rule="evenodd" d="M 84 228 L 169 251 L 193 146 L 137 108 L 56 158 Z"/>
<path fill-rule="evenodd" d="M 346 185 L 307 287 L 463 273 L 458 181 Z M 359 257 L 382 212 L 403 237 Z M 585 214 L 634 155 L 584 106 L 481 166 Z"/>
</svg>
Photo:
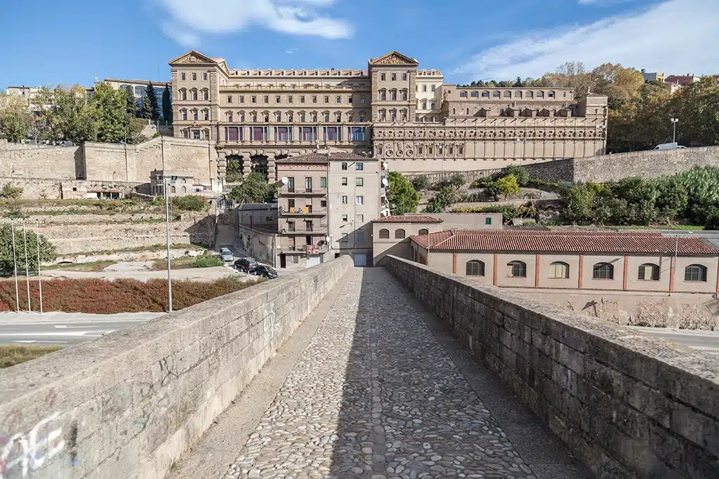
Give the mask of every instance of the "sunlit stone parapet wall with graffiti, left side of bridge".
<svg viewBox="0 0 719 479">
<path fill-rule="evenodd" d="M 351 264 L 330 261 L 1 370 L 0 477 L 162 478 Z"/>
</svg>

